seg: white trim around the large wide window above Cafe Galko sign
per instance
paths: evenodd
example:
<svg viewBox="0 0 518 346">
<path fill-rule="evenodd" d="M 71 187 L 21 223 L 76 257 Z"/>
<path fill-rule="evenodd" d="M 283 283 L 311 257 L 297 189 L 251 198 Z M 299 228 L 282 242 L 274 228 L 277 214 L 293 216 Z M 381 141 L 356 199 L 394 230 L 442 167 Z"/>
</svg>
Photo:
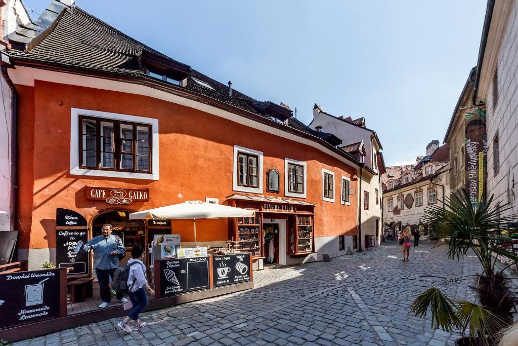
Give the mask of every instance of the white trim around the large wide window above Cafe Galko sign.
<svg viewBox="0 0 518 346">
<path fill-rule="evenodd" d="M 151 125 L 152 173 L 103 171 L 79 167 L 79 116 L 137 122 Z M 159 120 L 98 110 L 70 108 L 70 174 L 114 178 L 159 180 Z"/>
</svg>

